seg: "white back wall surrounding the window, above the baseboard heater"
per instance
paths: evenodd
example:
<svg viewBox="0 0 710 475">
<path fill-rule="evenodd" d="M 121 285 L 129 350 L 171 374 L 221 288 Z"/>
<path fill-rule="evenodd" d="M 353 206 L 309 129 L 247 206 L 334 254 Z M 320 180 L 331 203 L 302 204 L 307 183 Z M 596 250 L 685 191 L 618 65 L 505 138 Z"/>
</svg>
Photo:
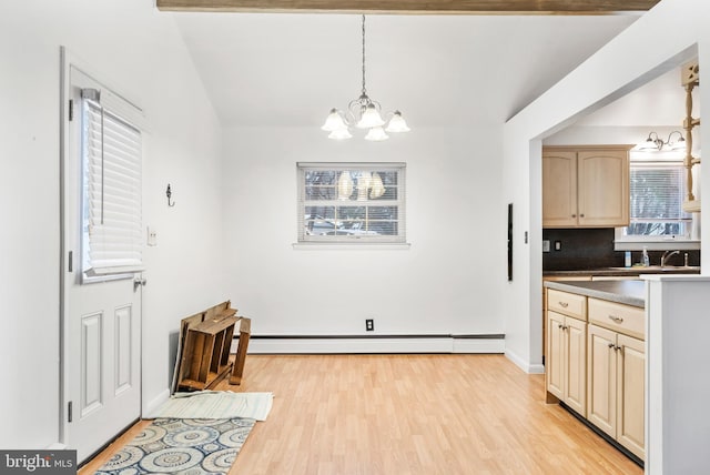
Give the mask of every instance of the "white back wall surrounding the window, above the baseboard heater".
<svg viewBox="0 0 710 475">
<path fill-rule="evenodd" d="M 371 143 L 317 128 L 225 131 L 229 293 L 255 335 L 501 332 L 499 129 Z M 296 162 L 406 162 L 408 250 L 294 250 Z"/>
</svg>

